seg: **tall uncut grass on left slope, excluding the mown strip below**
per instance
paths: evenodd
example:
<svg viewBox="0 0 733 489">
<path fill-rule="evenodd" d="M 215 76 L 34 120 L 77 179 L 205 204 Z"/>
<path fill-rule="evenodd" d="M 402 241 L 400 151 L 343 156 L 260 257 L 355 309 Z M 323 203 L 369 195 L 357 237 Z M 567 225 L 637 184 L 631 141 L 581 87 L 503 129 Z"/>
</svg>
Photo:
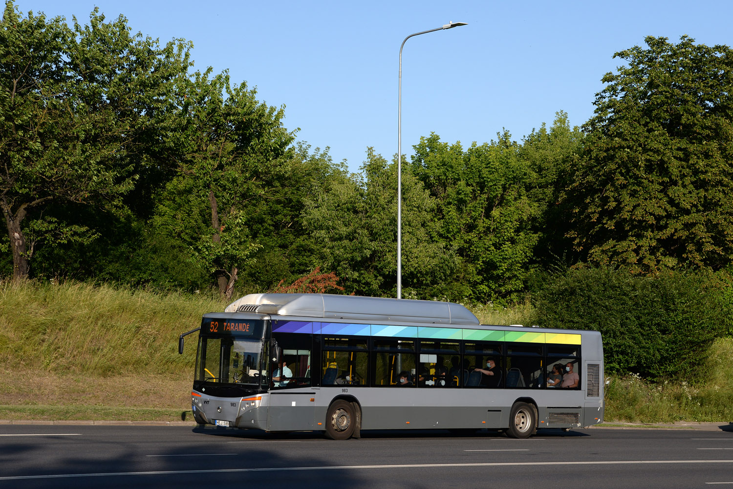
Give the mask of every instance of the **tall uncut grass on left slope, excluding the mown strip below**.
<svg viewBox="0 0 733 489">
<path fill-rule="evenodd" d="M 0 282 L 0 364 L 93 377 L 166 375 L 191 364 L 195 342 L 177 354 L 180 333 L 224 302 L 67 282 Z"/>
</svg>

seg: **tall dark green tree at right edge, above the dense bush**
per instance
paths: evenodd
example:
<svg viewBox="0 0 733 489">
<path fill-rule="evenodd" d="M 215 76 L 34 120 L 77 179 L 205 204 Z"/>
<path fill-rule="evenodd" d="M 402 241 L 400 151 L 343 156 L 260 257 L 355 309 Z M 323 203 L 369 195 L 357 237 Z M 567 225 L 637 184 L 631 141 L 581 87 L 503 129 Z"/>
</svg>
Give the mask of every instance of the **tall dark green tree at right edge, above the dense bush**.
<svg viewBox="0 0 733 489">
<path fill-rule="evenodd" d="M 575 249 L 653 273 L 733 258 L 733 51 L 647 37 L 614 55 L 565 199 Z"/>
</svg>

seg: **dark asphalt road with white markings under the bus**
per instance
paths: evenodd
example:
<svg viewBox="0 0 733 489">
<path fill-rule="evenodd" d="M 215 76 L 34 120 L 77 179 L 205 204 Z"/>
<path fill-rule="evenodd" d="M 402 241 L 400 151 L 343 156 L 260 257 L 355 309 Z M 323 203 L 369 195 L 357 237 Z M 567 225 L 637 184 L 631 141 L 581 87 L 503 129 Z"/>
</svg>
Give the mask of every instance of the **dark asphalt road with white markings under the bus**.
<svg viewBox="0 0 733 489">
<path fill-rule="evenodd" d="M 364 432 L 0 425 L 0 488 L 733 489 L 733 432 Z M 409 435 L 409 436 L 408 436 Z"/>
</svg>

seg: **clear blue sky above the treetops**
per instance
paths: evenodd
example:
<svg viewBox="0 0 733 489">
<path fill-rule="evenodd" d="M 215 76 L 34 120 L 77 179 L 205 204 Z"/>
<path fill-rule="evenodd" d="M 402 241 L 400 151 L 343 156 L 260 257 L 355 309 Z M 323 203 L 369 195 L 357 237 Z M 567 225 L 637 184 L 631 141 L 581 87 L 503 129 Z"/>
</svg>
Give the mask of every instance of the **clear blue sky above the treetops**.
<svg viewBox="0 0 733 489">
<path fill-rule="evenodd" d="M 188 1 L 16 0 L 21 11 L 73 15 L 100 7 L 133 32 L 194 43 L 195 68 L 228 69 L 285 105 L 298 139 L 331 147 L 356 171 L 367 147 L 397 153 L 399 45 L 449 21 L 468 26 L 412 37 L 402 51 L 402 152 L 420 136 L 468 147 L 507 128 L 517 141 L 566 111 L 592 117 L 616 51 L 647 35 L 733 45 L 731 1 Z"/>
</svg>

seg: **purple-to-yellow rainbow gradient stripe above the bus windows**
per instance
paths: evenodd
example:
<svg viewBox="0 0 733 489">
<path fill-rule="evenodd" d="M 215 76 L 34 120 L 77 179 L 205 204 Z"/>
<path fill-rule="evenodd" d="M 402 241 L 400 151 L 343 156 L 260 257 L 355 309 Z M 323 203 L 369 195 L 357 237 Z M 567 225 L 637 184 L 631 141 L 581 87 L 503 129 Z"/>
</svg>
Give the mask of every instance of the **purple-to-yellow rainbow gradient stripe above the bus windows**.
<svg viewBox="0 0 733 489">
<path fill-rule="evenodd" d="M 343 334 L 362 337 L 397 337 L 417 339 L 465 339 L 517 343 L 560 343 L 580 345 L 578 333 L 545 333 L 540 331 L 503 331 L 498 329 L 445 328 L 431 326 L 390 326 L 386 324 L 320 323 L 317 321 L 283 321 L 273 324 L 273 333 Z"/>
</svg>

